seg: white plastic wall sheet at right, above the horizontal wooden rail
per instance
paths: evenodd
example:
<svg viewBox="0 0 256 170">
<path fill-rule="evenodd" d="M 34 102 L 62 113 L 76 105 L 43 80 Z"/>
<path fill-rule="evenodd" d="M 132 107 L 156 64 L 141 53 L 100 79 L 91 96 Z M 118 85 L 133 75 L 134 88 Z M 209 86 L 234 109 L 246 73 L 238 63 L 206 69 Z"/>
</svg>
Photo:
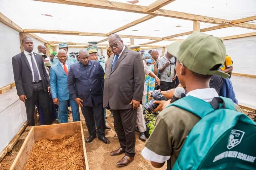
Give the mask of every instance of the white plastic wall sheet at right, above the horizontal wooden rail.
<svg viewBox="0 0 256 170">
<path fill-rule="evenodd" d="M 233 72 L 256 75 L 256 36 L 224 40 L 224 44 L 233 60 Z"/>
</svg>

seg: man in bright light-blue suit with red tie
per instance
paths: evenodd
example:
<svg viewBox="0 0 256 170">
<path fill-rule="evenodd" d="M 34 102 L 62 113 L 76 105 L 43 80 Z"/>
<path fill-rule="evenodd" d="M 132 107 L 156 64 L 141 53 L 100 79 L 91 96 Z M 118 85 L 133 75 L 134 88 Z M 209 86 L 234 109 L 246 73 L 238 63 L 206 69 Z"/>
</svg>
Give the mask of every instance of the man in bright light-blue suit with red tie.
<svg viewBox="0 0 256 170">
<path fill-rule="evenodd" d="M 73 62 L 67 61 L 67 53 L 61 49 L 58 52 L 59 62 L 50 68 L 50 87 L 53 103 L 59 105 L 58 122 L 68 122 L 68 102 L 72 109 L 73 121 L 80 121 L 78 104 L 70 97 L 68 90 L 68 74 Z"/>
</svg>

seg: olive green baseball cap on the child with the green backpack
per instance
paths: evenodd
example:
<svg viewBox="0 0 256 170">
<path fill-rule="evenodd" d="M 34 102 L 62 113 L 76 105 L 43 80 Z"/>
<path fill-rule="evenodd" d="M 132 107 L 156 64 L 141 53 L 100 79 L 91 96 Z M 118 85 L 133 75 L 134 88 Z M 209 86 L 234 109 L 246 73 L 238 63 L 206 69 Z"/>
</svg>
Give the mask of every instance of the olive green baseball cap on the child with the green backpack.
<svg viewBox="0 0 256 170">
<path fill-rule="evenodd" d="M 186 68 L 195 73 L 229 77 L 229 74 L 219 70 L 225 61 L 226 49 L 223 41 L 218 37 L 193 32 L 181 43 L 176 57 Z M 213 70 L 216 65 L 219 67 Z"/>
</svg>

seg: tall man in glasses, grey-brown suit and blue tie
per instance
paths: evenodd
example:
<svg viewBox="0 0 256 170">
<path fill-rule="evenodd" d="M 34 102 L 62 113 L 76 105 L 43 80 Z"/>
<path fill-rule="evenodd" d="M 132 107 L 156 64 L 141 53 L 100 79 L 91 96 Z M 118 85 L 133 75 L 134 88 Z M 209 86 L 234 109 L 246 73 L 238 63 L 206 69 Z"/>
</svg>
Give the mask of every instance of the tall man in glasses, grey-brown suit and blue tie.
<svg viewBox="0 0 256 170">
<path fill-rule="evenodd" d="M 144 89 L 144 65 L 140 53 L 125 47 L 117 34 L 112 34 L 108 42 L 114 54 L 107 64 L 103 107 L 113 110 L 114 125 L 121 146 L 110 154 L 125 152 L 117 165 L 126 166 L 135 155 L 135 124 Z"/>
</svg>

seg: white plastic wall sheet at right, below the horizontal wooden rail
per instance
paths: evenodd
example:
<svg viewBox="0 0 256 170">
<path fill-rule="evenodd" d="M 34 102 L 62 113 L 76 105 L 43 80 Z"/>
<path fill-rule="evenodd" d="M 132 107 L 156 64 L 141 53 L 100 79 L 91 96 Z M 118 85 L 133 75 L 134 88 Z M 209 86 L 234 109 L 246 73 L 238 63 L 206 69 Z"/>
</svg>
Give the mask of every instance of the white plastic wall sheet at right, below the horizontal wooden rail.
<svg viewBox="0 0 256 170">
<path fill-rule="evenodd" d="M 231 81 L 238 104 L 256 108 L 256 79 L 232 75 Z"/>
</svg>

